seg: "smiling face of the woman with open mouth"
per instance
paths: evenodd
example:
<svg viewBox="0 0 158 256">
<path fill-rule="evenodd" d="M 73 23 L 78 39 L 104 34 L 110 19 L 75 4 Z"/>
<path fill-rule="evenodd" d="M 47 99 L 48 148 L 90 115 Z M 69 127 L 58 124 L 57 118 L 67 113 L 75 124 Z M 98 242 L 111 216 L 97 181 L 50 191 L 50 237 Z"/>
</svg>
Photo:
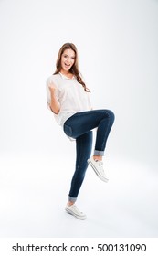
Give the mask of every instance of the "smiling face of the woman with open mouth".
<svg viewBox="0 0 158 256">
<path fill-rule="evenodd" d="M 74 50 L 70 48 L 65 49 L 63 54 L 61 55 L 61 71 L 68 72 L 74 63 L 75 63 Z"/>
</svg>

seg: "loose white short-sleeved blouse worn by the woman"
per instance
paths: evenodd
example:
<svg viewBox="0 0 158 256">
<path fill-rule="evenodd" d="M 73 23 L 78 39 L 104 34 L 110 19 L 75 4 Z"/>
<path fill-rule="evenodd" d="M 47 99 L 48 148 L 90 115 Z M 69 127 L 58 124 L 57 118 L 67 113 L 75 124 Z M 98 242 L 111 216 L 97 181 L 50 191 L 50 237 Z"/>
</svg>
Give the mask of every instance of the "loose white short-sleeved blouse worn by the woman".
<svg viewBox="0 0 158 256">
<path fill-rule="evenodd" d="M 55 114 L 59 125 L 63 126 L 66 120 L 76 112 L 90 111 L 90 92 L 84 91 L 83 86 L 74 76 L 72 79 L 61 73 L 52 75 L 47 79 L 47 106 L 51 101 L 49 87 L 57 88 L 56 100 L 59 102 L 60 111 Z"/>
</svg>

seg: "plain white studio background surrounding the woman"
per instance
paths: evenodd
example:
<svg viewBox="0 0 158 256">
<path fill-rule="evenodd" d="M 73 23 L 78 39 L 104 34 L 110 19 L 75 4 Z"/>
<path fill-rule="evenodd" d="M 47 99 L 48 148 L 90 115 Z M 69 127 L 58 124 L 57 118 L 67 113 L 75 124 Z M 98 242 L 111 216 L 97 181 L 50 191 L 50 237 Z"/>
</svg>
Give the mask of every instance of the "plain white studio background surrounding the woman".
<svg viewBox="0 0 158 256">
<path fill-rule="evenodd" d="M 157 31 L 156 0 L 0 0 L 1 237 L 158 235 Z M 89 168 L 79 193 L 85 221 L 64 211 L 75 143 L 47 110 L 65 42 L 79 50 L 94 109 L 116 116 L 110 182 Z"/>
</svg>

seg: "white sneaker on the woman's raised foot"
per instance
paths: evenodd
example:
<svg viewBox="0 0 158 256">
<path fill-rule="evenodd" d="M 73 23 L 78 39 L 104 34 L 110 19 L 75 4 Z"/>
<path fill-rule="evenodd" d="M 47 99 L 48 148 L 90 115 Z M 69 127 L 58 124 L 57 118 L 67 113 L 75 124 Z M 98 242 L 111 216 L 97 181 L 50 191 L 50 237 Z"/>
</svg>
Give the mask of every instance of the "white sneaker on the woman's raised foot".
<svg viewBox="0 0 158 256">
<path fill-rule="evenodd" d="M 88 163 L 90 166 L 93 168 L 94 172 L 96 175 L 104 182 L 108 182 L 109 178 L 105 175 L 104 170 L 103 170 L 103 163 L 102 161 L 95 161 L 93 159 L 93 156 L 88 159 Z"/>
</svg>

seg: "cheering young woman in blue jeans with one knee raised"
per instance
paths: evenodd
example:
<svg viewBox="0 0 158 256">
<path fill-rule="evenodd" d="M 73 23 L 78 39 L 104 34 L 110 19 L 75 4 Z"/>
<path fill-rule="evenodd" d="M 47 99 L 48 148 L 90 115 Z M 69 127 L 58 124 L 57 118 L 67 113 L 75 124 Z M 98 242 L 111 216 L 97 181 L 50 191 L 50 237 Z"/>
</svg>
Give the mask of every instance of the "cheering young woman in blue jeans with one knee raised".
<svg viewBox="0 0 158 256">
<path fill-rule="evenodd" d="M 76 140 L 76 167 L 71 180 L 66 211 L 78 219 L 86 219 L 75 202 L 88 164 L 104 182 L 102 156 L 114 122 L 110 110 L 92 110 L 90 90 L 79 73 L 78 51 L 74 44 L 64 44 L 58 52 L 57 69 L 47 79 L 47 105 L 64 133 Z M 92 131 L 97 128 L 94 154 L 91 155 Z"/>
</svg>

